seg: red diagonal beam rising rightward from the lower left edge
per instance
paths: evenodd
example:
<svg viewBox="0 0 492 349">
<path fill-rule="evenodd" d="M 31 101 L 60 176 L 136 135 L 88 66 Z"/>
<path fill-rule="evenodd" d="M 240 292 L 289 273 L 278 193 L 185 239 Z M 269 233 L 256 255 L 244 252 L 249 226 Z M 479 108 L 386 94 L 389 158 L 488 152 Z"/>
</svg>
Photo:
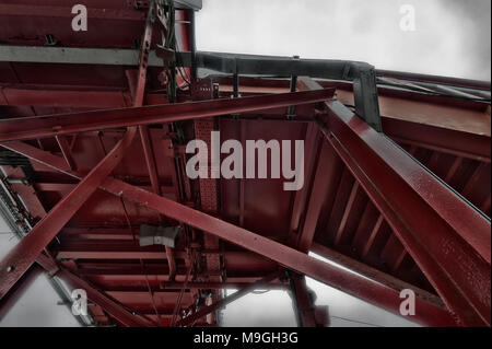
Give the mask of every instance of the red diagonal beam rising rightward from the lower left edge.
<svg viewBox="0 0 492 349">
<path fill-rule="evenodd" d="M 81 178 L 80 184 L 61 199 L 0 261 L 0 299 L 15 284 L 49 242 L 116 167 L 131 144 L 136 132 L 136 128 L 130 128 L 99 164 L 84 178 Z"/>
</svg>

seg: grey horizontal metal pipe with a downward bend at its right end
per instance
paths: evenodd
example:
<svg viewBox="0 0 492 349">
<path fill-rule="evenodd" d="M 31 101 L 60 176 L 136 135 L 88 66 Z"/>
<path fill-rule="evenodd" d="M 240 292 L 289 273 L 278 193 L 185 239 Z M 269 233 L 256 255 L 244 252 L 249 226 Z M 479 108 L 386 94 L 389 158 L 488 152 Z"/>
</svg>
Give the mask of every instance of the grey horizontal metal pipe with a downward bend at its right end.
<svg viewBox="0 0 492 349">
<path fill-rule="evenodd" d="M 91 55 L 89 50 L 93 50 Z M 94 57 L 103 57 L 98 63 L 134 65 L 134 50 L 72 49 L 55 48 L 51 50 L 33 47 L 0 46 L 0 57 L 8 61 L 32 62 L 78 62 L 94 63 Z M 24 55 L 23 55 L 24 54 Z M 376 72 L 366 62 L 327 59 L 298 59 L 292 57 L 269 57 L 258 55 L 232 55 L 224 53 L 177 53 L 175 60 L 183 67 L 211 69 L 222 73 L 266 74 L 279 77 L 309 75 L 335 80 L 353 81 L 355 109 L 377 131 L 382 131 L 379 104 L 377 98 Z M 49 60 L 47 59 L 49 57 Z M 149 65 L 161 66 L 155 53 L 149 56 Z"/>
</svg>

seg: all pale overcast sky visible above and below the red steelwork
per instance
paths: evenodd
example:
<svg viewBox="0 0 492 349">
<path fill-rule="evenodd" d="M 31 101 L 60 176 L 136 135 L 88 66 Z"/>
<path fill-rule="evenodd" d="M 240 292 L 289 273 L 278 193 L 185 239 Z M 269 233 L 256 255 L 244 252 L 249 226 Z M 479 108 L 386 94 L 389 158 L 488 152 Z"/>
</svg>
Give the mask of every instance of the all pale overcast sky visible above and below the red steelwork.
<svg viewBox="0 0 492 349">
<path fill-rule="evenodd" d="M 415 8 L 415 31 L 399 23 L 402 4 Z M 490 0 L 203 0 L 197 14 L 200 50 L 367 61 L 378 69 L 490 81 Z M 15 240 L 0 219 L 0 258 Z M 413 325 L 314 280 L 318 305 L 335 326 Z M 77 326 L 45 277 L 0 326 Z M 294 326 L 285 292 L 250 294 L 227 306 L 224 323 Z"/>
</svg>

